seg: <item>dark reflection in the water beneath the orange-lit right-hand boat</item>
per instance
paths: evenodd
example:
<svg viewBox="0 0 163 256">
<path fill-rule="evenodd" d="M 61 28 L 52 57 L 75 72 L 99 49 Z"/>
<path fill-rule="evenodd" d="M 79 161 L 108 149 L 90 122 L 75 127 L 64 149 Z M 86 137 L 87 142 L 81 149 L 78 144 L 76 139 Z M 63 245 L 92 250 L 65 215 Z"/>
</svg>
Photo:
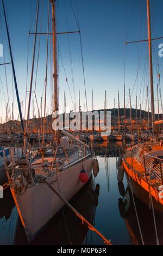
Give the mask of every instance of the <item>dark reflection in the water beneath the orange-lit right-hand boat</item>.
<svg viewBox="0 0 163 256">
<path fill-rule="evenodd" d="M 152 209 L 149 209 L 149 207 L 140 201 L 136 196 L 134 196 L 133 200 L 129 186 L 127 186 L 126 190 L 124 190 L 123 182 L 118 182 L 118 188 L 122 197 L 118 199 L 118 208 L 120 215 L 128 229 L 129 243 L 131 245 L 142 245 L 144 242 L 145 245 L 156 245 L 157 233 L 160 245 L 162 245 L 163 215 L 160 212 L 155 211 L 155 230 Z M 137 218 L 139 222 L 137 221 Z M 140 227 L 138 223 L 140 223 Z"/>
</svg>

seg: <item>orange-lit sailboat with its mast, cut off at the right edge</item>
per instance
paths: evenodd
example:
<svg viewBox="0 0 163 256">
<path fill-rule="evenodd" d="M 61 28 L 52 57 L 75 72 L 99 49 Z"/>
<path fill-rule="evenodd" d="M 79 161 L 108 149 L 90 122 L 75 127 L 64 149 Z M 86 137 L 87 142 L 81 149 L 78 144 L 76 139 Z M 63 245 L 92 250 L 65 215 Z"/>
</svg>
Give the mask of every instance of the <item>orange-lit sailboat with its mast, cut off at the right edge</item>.
<svg viewBox="0 0 163 256">
<path fill-rule="evenodd" d="M 152 69 L 152 43 L 151 43 L 151 19 L 150 6 L 147 0 L 148 18 L 148 45 L 149 45 L 149 71 L 151 82 L 151 109 L 153 137 L 156 121 L 154 120 L 154 93 L 153 93 L 153 69 Z M 140 200 L 153 209 L 163 212 L 163 147 L 162 141 L 156 142 L 156 138 L 147 143 L 139 143 L 129 147 L 122 155 L 122 165 L 126 170 L 129 184 Z M 123 172 L 123 168 L 120 168 Z M 135 181 L 134 183 L 132 182 Z M 122 181 L 122 180 L 121 180 Z"/>
</svg>

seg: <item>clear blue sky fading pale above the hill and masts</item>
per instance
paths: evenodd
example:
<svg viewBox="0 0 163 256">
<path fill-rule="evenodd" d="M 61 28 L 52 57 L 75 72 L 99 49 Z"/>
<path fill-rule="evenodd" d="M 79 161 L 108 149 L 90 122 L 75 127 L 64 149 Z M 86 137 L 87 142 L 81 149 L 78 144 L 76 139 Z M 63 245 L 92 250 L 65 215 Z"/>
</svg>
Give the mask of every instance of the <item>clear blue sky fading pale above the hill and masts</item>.
<svg viewBox="0 0 163 256">
<path fill-rule="evenodd" d="M 30 31 L 34 32 L 35 27 L 35 7 L 36 0 L 4 0 L 7 10 L 9 32 L 11 38 L 11 46 L 15 63 L 16 77 L 21 101 L 25 102 L 26 95 L 26 73 L 27 73 L 27 49 L 28 49 L 28 31 L 30 20 L 30 8 L 32 3 L 32 24 Z M 92 89 L 94 92 L 94 108 L 103 108 L 104 94 L 107 91 L 107 107 L 114 107 L 114 97 L 116 98 L 117 107 L 117 90 L 120 90 L 120 103 L 123 107 L 123 84 L 124 84 L 124 41 L 147 39 L 147 15 L 146 15 L 146 0 L 71 0 L 74 11 L 78 17 L 80 30 L 82 32 L 82 45 L 85 69 L 85 81 L 87 91 L 87 105 L 89 110 L 92 108 Z M 77 2 L 77 9 L 76 9 Z M 57 16 L 58 32 L 67 31 L 65 3 L 67 9 L 68 28 L 69 31 L 78 30 L 76 20 L 72 12 L 69 0 L 57 1 Z M 41 17 L 42 0 L 40 0 L 39 17 Z M 43 1 L 42 15 L 42 32 L 47 31 L 47 9 L 48 1 Z M 163 36 L 162 33 L 162 9 L 163 1 L 151 1 L 151 16 L 152 16 L 152 36 Z M 5 61 L 10 61 L 9 47 L 7 35 L 4 26 L 4 16 L 2 11 L 2 2 L 0 2 L 2 29 L 3 29 L 3 44 Z M 40 31 L 40 18 L 39 28 Z M 30 83 L 30 72 L 32 63 L 34 36 L 30 35 L 29 39 L 29 69 L 28 69 L 28 88 Z M 84 82 L 82 71 L 82 58 L 80 52 L 79 34 L 69 35 L 72 64 L 74 74 L 74 84 L 76 88 L 76 99 L 78 105 L 78 90 L 80 89 L 81 105 L 84 110 Z M 59 48 L 64 62 L 68 82 L 73 96 L 72 77 L 70 56 L 68 53 L 67 35 L 58 35 Z M 35 71 L 37 60 L 39 36 L 37 37 L 37 48 L 35 58 Z M 2 44 L 1 28 L 0 28 L 0 43 Z M 153 68 L 154 68 L 154 93 L 156 90 L 157 75 L 156 62 L 159 60 L 160 69 L 162 70 L 163 57 L 158 57 L 157 45 L 163 43 L 163 39 L 153 42 Z M 157 45 L 156 45 L 157 44 Z M 148 85 L 148 48 L 147 42 L 139 44 L 130 44 L 126 46 L 126 102 L 129 99 L 129 91 L 132 91 L 131 96 L 132 106 L 135 107 L 135 96 L 139 104 L 142 103 L 142 108 L 146 108 L 146 86 Z M 156 58 L 155 58 L 156 56 Z M 140 62 L 138 78 L 135 83 L 138 61 Z M 3 63 L 3 58 L 0 57 L 0 63 Z M 41 36 L 39 68 L 36 83 L 36 95 L 40 106 L 40 99 L 45 81 L 45 64 L 46 64 L 46 35 Z M 163 72 L 162 72 L 163 73 Z M 5 101 L 7 102 L 7 86 L 5 80 L 4 66 L 0 66 L 0 75 L 3 84 Z M 10 108 L 12 102 L 12 76 L 11 67 L 7 66 L 7 81 L 9 89 Z M 50 100 L 50 83 L 48 72 L 48 93 L 47 105 L 49 111 L 51 108 Z M 141 82 L 142 81 L 142 82 Z M 135 87 L 134 87 L 135 83 Z M 161 75 L 162 83 L 162 75 Z M 35 73 L 33 88 L 35 84 Z M 141 85 L 142 84 L 142 85 Z M 3 113 L 0 110 L 0 116 L 5 113 L 4 97 L 2 94 Z M 141 95 L 140 95 L 140 88 Z M 72 109 L 71 97 L 68 91 L 64 69 L 59 57 L 59 103 L 60 112 L 63 109 L 64 90 L 66 91 L 67 109 Z M 34 94 L 32 96 L 34 98 Z M 28 97 L 27 97 L 28 99 Z M 1 99 L 0 99 L 1 101 Z M 1 103 L 1 102 L 0 102 Z M 36 103 L 35 109 L 36 109 Z M 161 106 L 161 105 L 160 105 Z M 15 118 L 18 113 L 16 97 L 14 93 Z M 23 111 L 24 112 L 24 111 Z M 161 112 L 161 107 L 160 107 Z M 37 113 L 37 111 L 36 111 Z M 24 115 L 24 114 L 23 114 Z"/>
</svg>

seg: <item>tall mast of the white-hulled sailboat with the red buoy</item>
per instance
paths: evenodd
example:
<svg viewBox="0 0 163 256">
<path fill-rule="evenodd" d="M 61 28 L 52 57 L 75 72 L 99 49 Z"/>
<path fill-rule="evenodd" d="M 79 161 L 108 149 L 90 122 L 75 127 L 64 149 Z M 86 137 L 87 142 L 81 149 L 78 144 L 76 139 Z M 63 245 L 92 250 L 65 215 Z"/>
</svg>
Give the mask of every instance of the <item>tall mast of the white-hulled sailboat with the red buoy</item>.
<svg viewBox="0 0 163 256">
<path fill-rule="evenodd" d="M 57 70 L 57 38 L 56 38 L 56 19 L 55 19 L 55 0 L 52 3 L 52 34 L 53 34 L 53 78 L 54 78 L 54 113 L 58 112 L 58 70 Z M 55 140 L 57 140 L 57 130 L 55 130 Z"/>
</svg>

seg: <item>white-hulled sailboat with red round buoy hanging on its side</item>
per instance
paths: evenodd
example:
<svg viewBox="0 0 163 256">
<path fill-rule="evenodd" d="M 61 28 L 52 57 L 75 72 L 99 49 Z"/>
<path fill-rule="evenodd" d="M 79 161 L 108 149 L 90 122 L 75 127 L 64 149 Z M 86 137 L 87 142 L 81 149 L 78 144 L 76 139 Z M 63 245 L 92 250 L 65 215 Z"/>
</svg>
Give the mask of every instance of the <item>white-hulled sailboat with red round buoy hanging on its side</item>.
<svg viewBox="0 0 163 256">
<path fill-rule="evenodd" d="M 48 4 L 48 8 L 52 6 L 55 112 L 59 109 L 55 0 L 49 1 Z M 38 16 L 39 0 L 37 1 L 34 53 Z M 60 198 L 54 194 L 47 184 L 58 191 L 58 193 L 66 200 L 70 200 L 80 190 L 80 188 L 82 188 L 84 184 L 91 179 L 92 163 L 94 159 L 94 153 L 90 146 L 82 141 L 79 141 L 79 139 L 73 137 L 65 130 L 55 130 L 52 145 L 46 145 L 44 143 L 43 129 L 42 146 L 28 150 L 27 134 L 32 93 L 34 56 L 35 54 L 33 54 L 32 62 L 32 75 L 30 81 L 23 154 L 22 157 L 20 157 L 20 159 L 17 161 L 12 159 L 7 168 L 10 190 L 29 241 L 34 239 L 34 237 L 42 230 L 46 223 L 51 220 L 51 218 L 64 205 Z M 60 139 L 61 134 L 64 135 L 64 137 L 61 137 Z M 71 139 L 71 143 L 67 142 L 68 139 Z"/>
</svg>

